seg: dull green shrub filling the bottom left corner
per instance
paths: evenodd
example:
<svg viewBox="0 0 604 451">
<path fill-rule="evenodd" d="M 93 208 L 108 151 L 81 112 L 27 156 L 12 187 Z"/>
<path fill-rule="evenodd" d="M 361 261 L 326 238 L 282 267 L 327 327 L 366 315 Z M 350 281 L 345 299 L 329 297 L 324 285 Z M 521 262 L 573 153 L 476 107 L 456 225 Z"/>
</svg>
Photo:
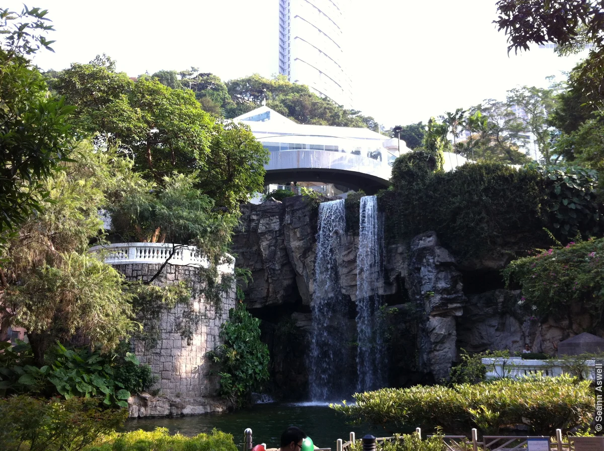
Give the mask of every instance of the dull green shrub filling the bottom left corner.
<svg viewBox="0 0 604 451">
<path fill-rule="evenodd" d="M 98 400 L 39 400 L 19 395 L 0 399 L 0 449 L 82 450 L 126 421 L 125 409 L 101 409 Z"/>
</svg>

